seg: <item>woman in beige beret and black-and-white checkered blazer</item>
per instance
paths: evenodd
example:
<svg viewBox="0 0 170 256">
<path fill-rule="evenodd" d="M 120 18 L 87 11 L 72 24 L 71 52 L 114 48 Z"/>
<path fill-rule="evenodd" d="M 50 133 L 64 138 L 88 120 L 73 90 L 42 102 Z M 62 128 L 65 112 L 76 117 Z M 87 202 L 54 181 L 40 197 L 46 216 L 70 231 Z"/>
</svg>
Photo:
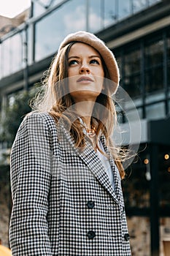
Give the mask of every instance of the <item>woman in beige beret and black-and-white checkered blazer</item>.
<svg viewBox="0 0 170 256">
<path fill-rule="evenodd" d="M 115 57 L 93 34 L 69 34 L 44 83 L 12 146 L 12 254 L 130 256 L 124 171 L 110 140 Z"/>
</svg>

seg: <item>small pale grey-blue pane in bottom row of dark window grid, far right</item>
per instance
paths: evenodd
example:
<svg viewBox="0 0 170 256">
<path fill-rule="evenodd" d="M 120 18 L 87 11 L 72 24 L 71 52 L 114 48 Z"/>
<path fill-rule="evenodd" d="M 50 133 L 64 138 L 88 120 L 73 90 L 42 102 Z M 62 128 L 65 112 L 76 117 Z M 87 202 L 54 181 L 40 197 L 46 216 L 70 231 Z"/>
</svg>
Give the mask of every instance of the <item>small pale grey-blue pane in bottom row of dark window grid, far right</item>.
<svg viewBox="0 0 170 256">
<path fill-rule="evenodd" d="M 165 118 L 164 102 L 147 106 L 146 117 L 148 120 Z"/>
</svg>

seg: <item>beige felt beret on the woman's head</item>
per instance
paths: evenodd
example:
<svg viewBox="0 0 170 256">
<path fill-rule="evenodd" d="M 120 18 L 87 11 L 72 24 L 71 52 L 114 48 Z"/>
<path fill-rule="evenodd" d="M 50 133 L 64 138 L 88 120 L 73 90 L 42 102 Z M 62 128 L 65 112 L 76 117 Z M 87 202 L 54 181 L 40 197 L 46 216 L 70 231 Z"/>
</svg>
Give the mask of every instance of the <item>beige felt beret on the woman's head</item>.
<svg viewBox="0 0 170 256">
<path fill-rule="evenodd" d="M 113 55 L 112 51 L 109 50 L 107 45 L 105 45 L 104 42 L 94 34 L 86 31 L 77 31 L 76 33 L 69 34 L 65 37 L 65 39 L 63 39 L 58 51 L 60 51 L 70 42 L 84 42 L 85 44 L 92 46 L 98 51 L 98 53 L 100 53 L 104 63 L 107 66 L 109 78 L 113 81 L 112 89 L 110 89 L 110 91 L 112 94 L 115 94 L 117 87 L 119 86 L 120 74 L 115 56 Z"/>
</svg>

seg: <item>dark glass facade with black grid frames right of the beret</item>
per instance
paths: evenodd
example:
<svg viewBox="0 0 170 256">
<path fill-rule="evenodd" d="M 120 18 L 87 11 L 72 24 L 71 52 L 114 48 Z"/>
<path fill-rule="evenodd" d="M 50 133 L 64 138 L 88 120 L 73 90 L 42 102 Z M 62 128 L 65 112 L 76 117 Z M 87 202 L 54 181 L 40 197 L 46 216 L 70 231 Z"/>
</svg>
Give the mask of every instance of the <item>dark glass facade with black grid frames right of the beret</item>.
<svg viewBox="0 0 170 256">
<path fill-rule="evenodd" d="M 167 28 L 115 49 L 121 86 L 133 98 L 140 118 L 169 116 L 169 41 Z"/>
</svg>

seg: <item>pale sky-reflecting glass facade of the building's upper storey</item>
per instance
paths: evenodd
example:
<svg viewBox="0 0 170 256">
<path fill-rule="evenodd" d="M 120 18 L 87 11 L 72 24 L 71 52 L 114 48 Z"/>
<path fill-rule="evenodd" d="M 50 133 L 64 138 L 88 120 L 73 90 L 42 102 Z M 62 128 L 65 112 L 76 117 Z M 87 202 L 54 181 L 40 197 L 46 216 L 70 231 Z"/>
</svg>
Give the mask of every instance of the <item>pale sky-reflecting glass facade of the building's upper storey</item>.
<svg viewBox="0 0 170 256">
<path fill-rule="evenodd" d="M 1 38 L 0 79 L 25 67 L 26 61 L 31 65 L 54 54 L 66 34 L 77 30 L 96 33 L 157 2 L 159 0 L 33 1 L 32 17 L 26 26 Z"/>
</svg>

